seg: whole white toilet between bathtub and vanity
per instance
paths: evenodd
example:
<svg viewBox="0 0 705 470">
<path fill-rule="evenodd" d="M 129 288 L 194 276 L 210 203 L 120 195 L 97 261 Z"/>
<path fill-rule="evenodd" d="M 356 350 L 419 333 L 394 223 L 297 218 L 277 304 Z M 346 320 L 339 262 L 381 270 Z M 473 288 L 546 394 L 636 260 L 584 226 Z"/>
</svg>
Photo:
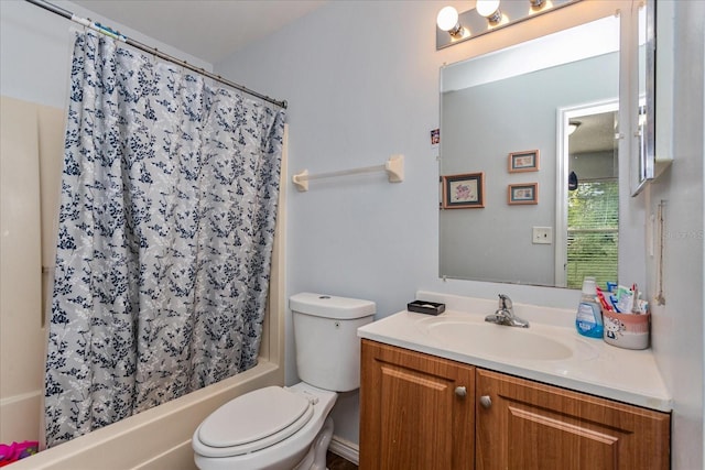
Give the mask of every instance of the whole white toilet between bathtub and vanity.
<svg viewBox="0 0 705 470">
<path fill-rule="evenodd" d="M 241 395 L 213 412 L 194 433 L 200 470 L 324 470 L 333 437 L 328 416 L 339 392 L 360 386 L 357 329 L 375 303 L 302 293 L 290 297 L 301 382 Z"/>
</svg>

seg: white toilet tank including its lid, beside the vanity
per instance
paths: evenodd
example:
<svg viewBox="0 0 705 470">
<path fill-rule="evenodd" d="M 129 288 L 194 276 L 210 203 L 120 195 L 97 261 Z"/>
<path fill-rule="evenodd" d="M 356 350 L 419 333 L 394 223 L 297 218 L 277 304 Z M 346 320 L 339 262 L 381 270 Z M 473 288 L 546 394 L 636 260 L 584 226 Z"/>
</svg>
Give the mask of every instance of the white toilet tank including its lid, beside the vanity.
<svg viewBox="0 0 705 470">
<path fill-rule="evenodd" d="M 319 389 L 348 392 L 360 386 L 357 329 L 372 321 L 370 300 L 301 293 L 289 298 L 299 378 Z"/>
</svg>

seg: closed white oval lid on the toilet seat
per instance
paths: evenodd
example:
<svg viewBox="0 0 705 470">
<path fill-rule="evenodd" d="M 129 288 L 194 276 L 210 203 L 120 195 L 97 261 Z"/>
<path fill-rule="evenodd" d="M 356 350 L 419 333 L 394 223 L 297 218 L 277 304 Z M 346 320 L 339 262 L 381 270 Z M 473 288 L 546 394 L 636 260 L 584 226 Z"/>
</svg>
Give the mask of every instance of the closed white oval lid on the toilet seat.
<svg viewBox="0 0 705 470">
<path fill-rule="evenodd" d="M 313 415 L 303 395 L 268 386 L 239 396 L 208 416 L 198 439 L 209 447 L 228 448 L 230 456 L 272 446 L 301 429 Z M 215 449 L 214 449 L 215 450 Z"/>
</svg>

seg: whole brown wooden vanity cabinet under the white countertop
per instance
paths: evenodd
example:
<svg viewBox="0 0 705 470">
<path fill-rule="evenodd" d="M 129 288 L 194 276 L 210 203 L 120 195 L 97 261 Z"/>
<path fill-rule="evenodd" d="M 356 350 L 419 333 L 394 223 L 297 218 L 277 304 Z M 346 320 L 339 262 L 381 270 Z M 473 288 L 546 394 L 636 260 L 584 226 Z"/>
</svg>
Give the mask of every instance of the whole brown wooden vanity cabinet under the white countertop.
<svg viewBox="0 0 705 470">
<path fill-rule="evenodd" d="M 669 468 L 666 413 L 362 340 L 361 470 Z"/>
</svg>

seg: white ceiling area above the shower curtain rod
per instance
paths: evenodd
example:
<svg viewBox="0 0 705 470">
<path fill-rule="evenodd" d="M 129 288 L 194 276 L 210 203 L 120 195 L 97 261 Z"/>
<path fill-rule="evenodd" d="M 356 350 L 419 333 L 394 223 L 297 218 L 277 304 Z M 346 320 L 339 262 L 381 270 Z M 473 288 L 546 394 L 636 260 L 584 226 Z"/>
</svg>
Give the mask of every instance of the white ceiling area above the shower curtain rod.
<svg viewBox="0 0 705 470">
<path fill-rule="evenodd" d="M 216 64 L 323 7 L 326 1 L 74 0 L 74 3 Z"/>
</svg>

